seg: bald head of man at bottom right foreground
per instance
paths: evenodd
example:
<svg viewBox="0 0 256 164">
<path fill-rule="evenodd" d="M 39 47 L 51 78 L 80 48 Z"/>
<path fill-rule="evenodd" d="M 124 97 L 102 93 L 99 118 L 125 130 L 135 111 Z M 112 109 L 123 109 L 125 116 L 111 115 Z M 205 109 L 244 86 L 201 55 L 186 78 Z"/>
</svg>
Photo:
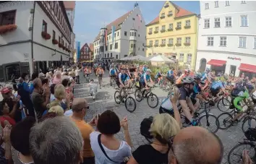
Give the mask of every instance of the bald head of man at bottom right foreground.
<svg viewBox="0 0 256 164">
<path fill-rule="evenodd" d="M 189 126 L 179 131 L 171 141 L 169 164 L 221 164 L 223 144 L 216 134 L 207 129 Z"/>
</svg>

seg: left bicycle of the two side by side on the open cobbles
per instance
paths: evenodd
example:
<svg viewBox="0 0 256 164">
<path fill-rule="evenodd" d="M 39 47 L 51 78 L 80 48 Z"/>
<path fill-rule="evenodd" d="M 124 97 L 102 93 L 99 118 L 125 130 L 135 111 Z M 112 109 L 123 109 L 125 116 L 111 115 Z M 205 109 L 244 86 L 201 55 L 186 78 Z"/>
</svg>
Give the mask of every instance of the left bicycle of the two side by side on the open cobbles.
<svg viewBox="0 0 256 164">
<path fill-rule="evenodd" d="M 114 93 L 115 102 L 117 104 L 124 103 L 127 111 L 129 111 L 130 113 L 134 112 L 136 110 L 136 102 L 135 102 L 135 99 L 132 98 L 132 96 L 131 96 L 132 93 L 130 91 L 130 88 L 128 88 L 128 87 L 123 88 L 123 91 L 122 91 L 122 92 L 124 92 L 123 96 L 121 96 L 119 94 L 119 90 L 120 89 L 118 87 L 116 87 L 116 92 Z M 128 109 L 128 106 L 131 106 L 132 102 L 135 104 L 135 106 L 132 109 Z"/>
</svg>

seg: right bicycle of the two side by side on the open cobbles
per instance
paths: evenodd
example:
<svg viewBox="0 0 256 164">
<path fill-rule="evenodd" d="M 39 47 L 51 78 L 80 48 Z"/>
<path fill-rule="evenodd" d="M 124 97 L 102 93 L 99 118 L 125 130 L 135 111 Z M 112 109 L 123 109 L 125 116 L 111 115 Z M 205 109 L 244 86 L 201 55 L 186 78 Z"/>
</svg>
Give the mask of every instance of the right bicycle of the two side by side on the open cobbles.
<svg viewBox="0 0 256 164">
<path fill-rule="evenodd" d="M 158 103 L 159 103 L 158 102 L 158 96 L 155 95 L 152 92 L 152 87 L 151 86 L 148 86 L 149 87 L 148 90 L 146 90 L 145 88 L 140 88 L 137 85 L 135 85 L 135 87 L 137 87 L 137 89 L 135 90 L 135 99 L 137 100 L 137 102 L 140 102 L 144 98 L 147 98 L 147 103 L 150 106 L 150 108 L 155 108 L 155 107 L 158 106 Z M 155 105 L 150 105 L 150 101 L 153 102 L 154 100 L 155 100 L 156 104 Z"/>
</svg>

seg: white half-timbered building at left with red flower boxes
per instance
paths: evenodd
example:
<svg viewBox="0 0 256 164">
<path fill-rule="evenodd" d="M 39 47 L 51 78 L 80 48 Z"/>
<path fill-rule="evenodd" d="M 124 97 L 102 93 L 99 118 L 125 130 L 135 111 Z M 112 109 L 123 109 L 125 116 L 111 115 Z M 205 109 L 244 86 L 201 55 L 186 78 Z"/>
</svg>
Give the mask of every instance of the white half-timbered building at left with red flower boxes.
<svg viewBox="0 0 256 164">
<path fill-rule="evenodd" d="M 0 1 L 0 79 L 69 60 L 72 28 L 63 1 Z"/>
</svg>

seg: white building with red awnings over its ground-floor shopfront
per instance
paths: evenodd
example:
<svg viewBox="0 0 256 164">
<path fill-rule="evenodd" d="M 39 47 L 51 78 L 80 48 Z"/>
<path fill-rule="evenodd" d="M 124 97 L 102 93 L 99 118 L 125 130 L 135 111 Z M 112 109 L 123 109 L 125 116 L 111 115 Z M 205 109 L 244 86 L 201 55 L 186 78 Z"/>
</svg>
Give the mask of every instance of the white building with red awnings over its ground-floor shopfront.
<svg viewBox="0 0 256 164">
<path fill-rule="evenodd" d="M 200 1 L 196 70 L 256 73 L 256 1 Z"/>
</svg>

